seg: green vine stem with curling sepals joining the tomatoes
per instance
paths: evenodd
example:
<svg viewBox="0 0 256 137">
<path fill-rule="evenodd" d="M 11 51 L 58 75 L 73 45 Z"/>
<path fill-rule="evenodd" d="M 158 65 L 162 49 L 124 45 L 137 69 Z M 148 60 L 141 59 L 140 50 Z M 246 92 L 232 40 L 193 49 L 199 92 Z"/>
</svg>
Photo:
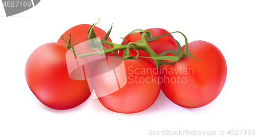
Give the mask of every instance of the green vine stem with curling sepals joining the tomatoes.
<svg viewBox="0 0 256 137">
<path fill-rule="evenodd" d="M 187 38 L 181 32 L 177 31 L 177 32 L 172 32 L 172 33 L 180 33 L 180 34 L 183 35 L 183 37 L 185 38 L 185 49 L 184 49 L 184 51 L 182 50 L 180 43 L 177 40 L 175 40 L 172 36 L 168 35 L 168 34 L 172 34 L 172 33 L 166 33 L 165 32 L 165 34 L 163 34 L 163 35 L 159 35 L 157 37 L 152 37 L 152 33 L 150 31 L 144 31 L 144 30 L 141 30 L 141 29 L 136 29 L 136 30 L 134 30 L 134 31 L 132 31 L 132 32 L 130 32 L 129 34 L 126 35 L 126 36 L 128 36 L 130 34 L 140 33 L 140 37 L 141 37 L 140 40 L 138 40 L 137 42 L 129 42 L 128 43 L 124 39 L 126 37 L 125 36 L 124 38 L 122 38 L 124 40 L 125 44 L 121 45 L 121 44 L 116 44 L 116 43 L 107 41 L 107 39 L 109 38 L 109 35 L 112 31 L 113 25 L 111 25 L 110 30 L 108 31 L 108 33 L 105 35 L 105 37 L 103 39 L 97 38 L 95 32 L 93 31 L 93 28 L 97 23 L 94 23 L 88 29 L 88 34 L 89 34 L 88 35 L 88 44 L 95 52 L 85 53 L 85 54 L 78 54 L 77 57 L 83 58 L 83 57 L 87 57 L 87 56 L 93 56 L 93 55 L 96 55 L 96 54 L 100 54 L 100 56 L 104 56 L 105 54 L 108 54 L 108 53 L 114 53 L 114 51 L 124 50 L 122 57 L 118 56 L 115 53 L 114 53 L 114 55 L 117 56 L 118 58 L 122 58 L 123 60 L 137 60 L 138 58 L 153 59 L 155 65 L 158 69 L 160 68 L 161 64 L 166 64 L 166 65 L 175 64 L 176 62 L 180 61 L 184 57 L 184 55 L 196 59 L 192 54 L 190 54 L 187 51 L 188 50 Z M 148 45 L 147 42 L 157 40 L 158 38 L 164 37 L 166 35 L 171 37 L 172 39 L 174 39 L 174 41 L 177 44 L 178 51 L 173 50 L 173 49 L 169 49 L 169 50 L 165 50 L 161 53 L 154 52 L 153 49 Z M 103 44 L 108 44 L 109 49 L 106 48 L 106 47 L 103 47 L 102 46 Z M 110 46 L 113 46 L 113 47 L 111 48 Z M 101 49 L 101 51 L 99 49 Z M 135 57 L 130 56 L 130 51 L 129 51 L 130 49 L 134 49 L 137 52 L 137 56 L 135 56 Z M 137 50 L 145 51 L 150 57 L 142 57 L 142 56 L 140 57 Z M 168 56 L 168 55 L 166 55 L 167 53 L 173 53 L 175 56 Z M 165 60 L 165 61 L 163 61 L 163 60 Z M 196 59 L 196 60 L 198 60 L 198 59 Z M 200 61 L 200 60 L 198 60 L 198 61 Z"/>
</svg>

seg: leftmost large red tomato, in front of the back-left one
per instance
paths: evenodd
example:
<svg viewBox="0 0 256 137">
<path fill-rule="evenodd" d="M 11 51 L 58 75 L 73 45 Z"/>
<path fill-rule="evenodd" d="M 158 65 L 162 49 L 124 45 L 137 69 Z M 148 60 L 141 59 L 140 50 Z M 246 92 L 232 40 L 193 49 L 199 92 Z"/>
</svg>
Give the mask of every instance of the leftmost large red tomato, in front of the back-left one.
<svg viewBox="0 0 256 137">
<path fill-rule="evenodd" d="M 53 109 L 76 107 L 91 95 L 87 80 L 69 77 L 67 51 L 59 43 L 47 43 L 38 47 L 26 64 L 29 88 L 39 101 Z"/>
</svg>

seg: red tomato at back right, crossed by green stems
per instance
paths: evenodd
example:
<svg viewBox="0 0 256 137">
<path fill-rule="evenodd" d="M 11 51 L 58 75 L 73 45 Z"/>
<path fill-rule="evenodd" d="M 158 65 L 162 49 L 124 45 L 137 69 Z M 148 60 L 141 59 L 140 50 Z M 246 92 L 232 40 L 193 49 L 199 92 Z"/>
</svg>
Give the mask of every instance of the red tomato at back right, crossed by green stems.
<svg viewBox="0 0 256 137">
<path fill-rule="evenodd" d="M 169 33 L 163 29 L 159 29 L 159 28 L 152 28 L 152 29 L 147 29 L 145 31 L 150 31 L 152 33 L 152 37 L 157 37 L 159 35 L 163 35 L 165 33 Z M 168 34 L 169 36 L 172 36 L 170 34 Z M 164 37 L 161 37 L 161 38 L 158 38 L 157 40 L 154 40 L 154 41 L 150 41 L 150 42 L 147 42 L 147 44 L 152 48 L 153 51 L 155 51 L 157 54 L 158 53 L 161 53 L 165 50 L 168 50 L 168 49 L 174 49 L 174 50 L 177 50 L 177 46 L 176 46 L 176 42 L 174 41 L 173 38 L 169 37 L 169 36 L 164 36 Z M 172 36 L 173 37 L 173 36 Z M 130 34 L 128 35 L 127 37 L 124 38 L 125 40 L 128 39 L 127 41 L 128 42 L 137 42 L 138 40 L 140 40 L 140 33 L 134 33 L 134 34 Z M 121 43 L 122 45 L 124 45 L 124 41 Z M 127 43 L 128 44 L 128 43 Z M 137 52 L 133 49 L 130 49 L 130 55 L 131 56 L 136 56 L 137 55 Z M 142 50 L 138 50 L 139 52 L 139 56 L 142 56 L 142 57 L 150 57 L 145 51 L 142 51 Z M 120 50 L 119 51 L 119 56 L 122 57 L 123 55 L 123 50 Z M 152 59 L 146 59 L 146 58 L 143 58 L 145 60 L 148 60 L 148 61 L 151 61 L 153 64 L 154 61 Z"/>
</svg>

